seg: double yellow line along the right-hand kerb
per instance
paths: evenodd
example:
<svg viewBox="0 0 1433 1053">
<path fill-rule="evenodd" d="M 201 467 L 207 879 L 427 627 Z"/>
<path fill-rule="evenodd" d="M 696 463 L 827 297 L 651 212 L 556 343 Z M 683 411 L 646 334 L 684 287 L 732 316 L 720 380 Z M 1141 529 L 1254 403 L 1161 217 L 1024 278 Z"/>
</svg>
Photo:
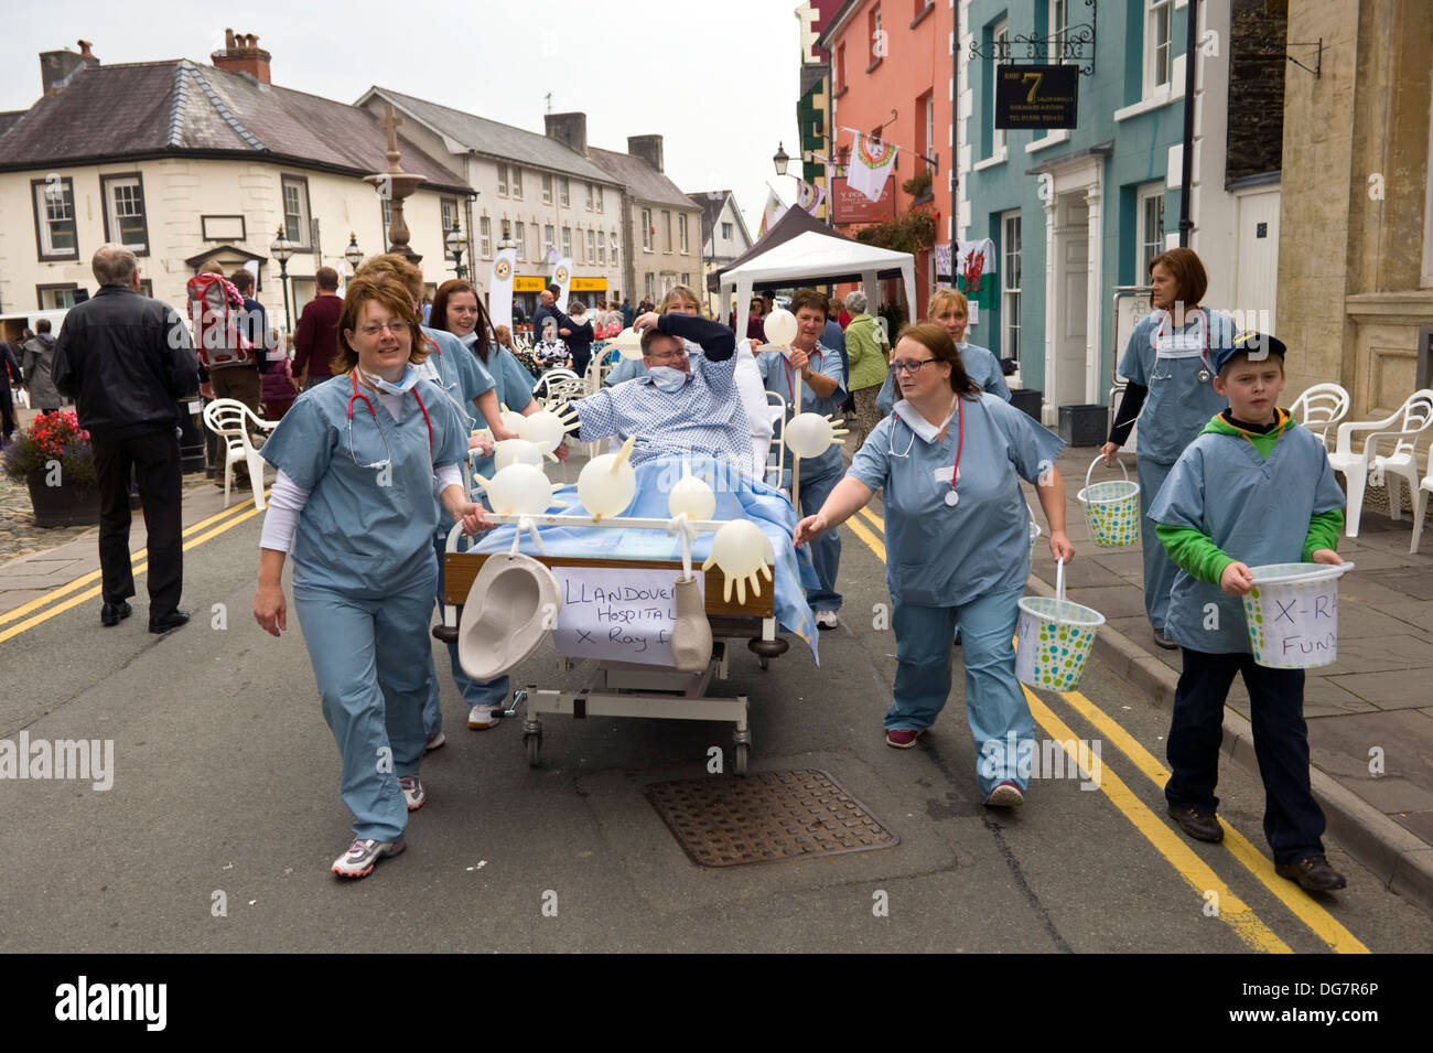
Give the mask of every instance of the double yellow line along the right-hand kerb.
<svg viewBox="0 0 1433 1053">
<path fill-rule="evenodd" d="M 866 523 L 861 523 L 861 519 Z M 867 526 L 870 524 L 870 526 Z M 876 553 L 876 557 L 886 562 L 886 546 L 876 537 L 871 532 L 878 530 L 883 536 L 886 533 L 886 524 L 877 514 L 861 509 L 860 516 L 853 516 L 845 521 L 845 526 L 851 527 L 851 533 L 860 537 L 866 546 Z M 1055 712 L 1046 706 L 1029 688 L 1025 688 L 1026 698 L 1030 703 L 1030 713 L 1035 716 L 1036 722 L 1045 729 L 1045 732 L 1055 741 L 1062 744 L 1062 748 L 1072 759 L 1076 758 L 1076 738 L 1075 732 L 1055 715 Z M 1105 713 L 1099 706 L 1091 702 L 1078 691 L 1066 692 L 1060 695 L 1065 702 L 1070 705 L 1080 716 L 1083 716 L 1095 729 L 1109 742 L 1125 754 L 1155 787 L 1164 789 L 1165 782 L 1169 781 L 1169 772 L 1165 769 L 1154 755 L 1145 749 L 1134 735 L 1125 731 L 1119 722 Z M 1145 840 L 1152 844 L 1165 860 L 1179 872 L 1179 875 L 1194 887 L 1195 893 L 1201 897 L 1208 897 L 1209 893 L 1215 894 L 1215 903 L 1218 905 L 1218 917 L 1228 924 L 1235 936 L 1240 937 L 1248 947 L 1258 951 L 1275 953 L 1275 954 L 1290 954 L 1293 950 L 1274 930 L 1271 930 L 1264 921 L 1252 911 L 1252 908 L 1244 903 L 1234 891 L 1215 874 L 1214 868 L 1209 867 L 1194 850 L 1179 837 L 1166 822 L 1164 822 L 1155 812 L 1139 799 L 1139 797 L 1121 779 L 1115 772 L 1112 772 L 1102 761 L 1096 761 L 1096 772 L 1091 772 L 1092 778 L 1098 778 L 1099 789 L 1109 798 L 1121 814 L 1135 830 L 1138 830 Z M 1248 870 L 1258 881 L 1268 888 L 1278 900 L 1288 907 L 1288 910 L 1303 921 L 1310 931 L 1314 933 L 1324 944 L 1340 954 L 1369 954 L 1369 948 L 1347 928 L 1344 928 L 1338 921 L 1328 914 L 1321 905 L 1318 905 L 1313 898 L 1305 895 L 1303 891 L 1294 887 L 1291 881 L 1287 881 L 1274 871 L 1274 864 L 1258 851 L 1250 841 L 1240 834 L 1234 827 L 1231 827 L 1224 819 L 1219 819 L 1224 827 L 1224 845 L 1230 850 L 1230 854 Z"/>
</svg>

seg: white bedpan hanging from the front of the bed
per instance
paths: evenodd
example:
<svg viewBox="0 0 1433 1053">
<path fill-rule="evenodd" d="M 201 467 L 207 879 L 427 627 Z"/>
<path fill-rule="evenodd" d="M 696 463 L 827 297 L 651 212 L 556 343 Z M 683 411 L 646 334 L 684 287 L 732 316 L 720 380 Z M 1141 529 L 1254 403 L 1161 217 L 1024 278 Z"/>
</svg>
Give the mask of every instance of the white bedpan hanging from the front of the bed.
<svg viewBox="0 0 1433 1053">
<path fill-rule="evenodd" d="M 562 592 L 552 570 L 522 553 L 494 553 L 467 590 L 457 658 L 476 681 L 493 681 L 527 658 L 557 625 Z"/>
</svg>

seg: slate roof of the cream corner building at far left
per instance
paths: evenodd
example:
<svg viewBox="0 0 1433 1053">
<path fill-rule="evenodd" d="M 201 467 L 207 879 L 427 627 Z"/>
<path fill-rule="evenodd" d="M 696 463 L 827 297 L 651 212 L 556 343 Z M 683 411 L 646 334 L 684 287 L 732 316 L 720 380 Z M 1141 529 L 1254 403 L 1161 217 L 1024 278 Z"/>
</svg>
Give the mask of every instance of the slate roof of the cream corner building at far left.
<svg viewBox="0 0 1433 1053">
<path fill-rule="evenodd" d="M 404 172 L 426 189 L 471 188 L 398 133 Z M 0 170 L 158 156 L 291 160 L 345 175 L 388 168 L 387 135 L 365 109 L 262 85 L 188 59 L 93 66 L 0 135 Z"/>
</svg>

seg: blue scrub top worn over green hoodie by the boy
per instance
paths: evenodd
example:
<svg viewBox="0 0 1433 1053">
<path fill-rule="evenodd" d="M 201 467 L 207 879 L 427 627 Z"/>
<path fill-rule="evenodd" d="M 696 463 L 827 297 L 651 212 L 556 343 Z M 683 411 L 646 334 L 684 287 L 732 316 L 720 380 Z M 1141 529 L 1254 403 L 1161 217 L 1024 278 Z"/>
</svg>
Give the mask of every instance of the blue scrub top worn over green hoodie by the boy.
<svg viewBox="0 0 1433 1053">
<path fill-rule="evenodd" d="M 1201 434 L 1175 461 L 1149 506 L 1149 519 L 1194 527 L 1225 554 L 1255 567 L 1301 563 L 1308 521 L 1343 506 L 1324 444 L 1294 424 L 1274 443 L 1268 460 L 1242 436 Z M 1252 653 L 1244 600 L 1187 570 L 1169 590 L 1165 632 L 1191 650 Z"/>
</svg>

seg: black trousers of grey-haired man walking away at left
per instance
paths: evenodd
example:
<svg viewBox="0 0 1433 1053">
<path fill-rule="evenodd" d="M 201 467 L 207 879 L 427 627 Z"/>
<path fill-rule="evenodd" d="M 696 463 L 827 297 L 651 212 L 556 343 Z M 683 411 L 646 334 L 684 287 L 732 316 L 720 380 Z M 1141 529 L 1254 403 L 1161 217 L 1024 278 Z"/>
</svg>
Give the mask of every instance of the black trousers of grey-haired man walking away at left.
<svg viewBox="0 0 1433 1053">
<path fill-rule="evenodd" d="M 129 564 L 129 476 L 133 471 L 149 532 L 149 616 L 171 615 L 179 609 L 183 589 L 179 437 L 166 427 L 126 438 L 95 438 L 93 443 L 105 602 L 119 603 L 135 595 L 135 573 Z"/>
</svg>

